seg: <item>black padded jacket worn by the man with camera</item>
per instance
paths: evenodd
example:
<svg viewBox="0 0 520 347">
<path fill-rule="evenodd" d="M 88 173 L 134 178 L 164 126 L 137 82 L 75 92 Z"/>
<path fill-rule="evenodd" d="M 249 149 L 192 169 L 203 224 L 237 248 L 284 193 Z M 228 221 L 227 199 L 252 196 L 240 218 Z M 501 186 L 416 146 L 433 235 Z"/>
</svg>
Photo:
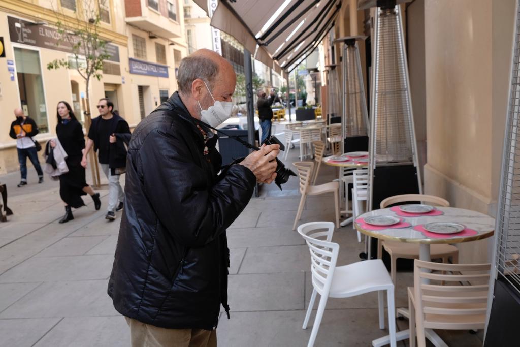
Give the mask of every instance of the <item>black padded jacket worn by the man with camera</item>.
<svg viewBox="0 0 520 347">
<path fill-rule="evenodd" d="M 226 311 L 226 228 L 248 204 L 255 175 L 206 144 L 174 93 L 135 128 L 125 209 L 108 294 L 121 314 L 174 329 L 216 328 Z"/>
</svg>

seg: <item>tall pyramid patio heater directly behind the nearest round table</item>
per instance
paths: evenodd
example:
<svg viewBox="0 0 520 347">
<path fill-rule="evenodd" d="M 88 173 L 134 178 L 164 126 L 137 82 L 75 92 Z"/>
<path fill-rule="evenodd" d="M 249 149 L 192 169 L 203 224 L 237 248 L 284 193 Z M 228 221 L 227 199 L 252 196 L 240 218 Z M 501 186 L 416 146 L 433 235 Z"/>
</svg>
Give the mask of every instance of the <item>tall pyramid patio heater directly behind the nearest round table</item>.
<svg viewBox="0 0 520 347">
<path fill-rule="evenodd" d="M 413 125 L 408 63 L 396 0 L 362 1 L 377 6 L 373 29 L 370 105 L 369 203 L 398 194 L 422 194 Z M 366 7 L 365 7 L 366 8 Z"/>
</svg>

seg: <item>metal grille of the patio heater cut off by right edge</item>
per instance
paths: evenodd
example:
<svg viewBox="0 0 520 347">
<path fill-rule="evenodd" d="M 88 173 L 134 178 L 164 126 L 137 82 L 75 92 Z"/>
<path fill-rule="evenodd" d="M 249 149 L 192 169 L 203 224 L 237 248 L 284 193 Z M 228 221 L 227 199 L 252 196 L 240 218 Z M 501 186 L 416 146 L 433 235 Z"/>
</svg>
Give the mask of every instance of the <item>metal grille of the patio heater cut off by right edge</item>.
<svg viewBox="0 0 520 347">
<path fill-rule="evenodd" d="M 520 292 L 520 14 L 518 12 L 511 70 L 510 100 L 497 211 L 496 267 L 497 272 Z"/>
</svg>

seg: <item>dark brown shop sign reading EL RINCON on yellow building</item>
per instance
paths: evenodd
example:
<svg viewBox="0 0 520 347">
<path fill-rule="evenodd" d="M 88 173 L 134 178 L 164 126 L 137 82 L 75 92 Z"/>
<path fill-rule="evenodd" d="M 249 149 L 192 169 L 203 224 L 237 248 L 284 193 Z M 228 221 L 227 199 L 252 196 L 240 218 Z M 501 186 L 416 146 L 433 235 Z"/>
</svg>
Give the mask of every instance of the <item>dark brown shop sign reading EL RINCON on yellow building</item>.
<svg viewBox="0 0 520 347">
<path fill-rule="evenodd" d="M 9 25 L 9 37 L 11 42 L 23 43 L 36 47 L 61 50 L 72 53 L 72 45 L 67 37 L 64 37 L 57 29 L 39 25 L 20 18 L 7 16 Z M 72 36 L 72 40 L 78 40 Z M 107 60 L 119 62 L 119 47 L 112 44 L 105 45 L 105 53 L 110 55 Z M 80 49 L 80 54 L 83 54 Z"/>
</svg>

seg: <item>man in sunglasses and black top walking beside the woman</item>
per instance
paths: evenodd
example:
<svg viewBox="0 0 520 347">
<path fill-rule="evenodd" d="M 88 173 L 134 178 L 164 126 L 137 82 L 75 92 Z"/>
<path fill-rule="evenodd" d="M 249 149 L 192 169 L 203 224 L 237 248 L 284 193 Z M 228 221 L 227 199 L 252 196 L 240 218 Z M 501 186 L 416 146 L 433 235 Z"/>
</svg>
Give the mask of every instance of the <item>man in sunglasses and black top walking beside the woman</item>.
<svg viewBox="0 0 520 347">
<path fill-rule="evenodd" d="M 119 176 L 113 175 L 110 167 L 110 137 L 114 134 L 130 133 L 128 123 L 113 112 L 114 104 L 109 98 L 99 99 L 97 109 L 99 117 L 92 120 L 88 131 L 88 140 L 83 153 L 81 165 L 87 167 L 87 155 L 92 147 L 98 151 L 101 169 L 108 178 L 108 211 L 105 219 L 115 220 L 115 212 L 123 209 L 124 192 L 119 183 Z M 118 203 L 119 202 L 119 203 Z"/>
</svg>

